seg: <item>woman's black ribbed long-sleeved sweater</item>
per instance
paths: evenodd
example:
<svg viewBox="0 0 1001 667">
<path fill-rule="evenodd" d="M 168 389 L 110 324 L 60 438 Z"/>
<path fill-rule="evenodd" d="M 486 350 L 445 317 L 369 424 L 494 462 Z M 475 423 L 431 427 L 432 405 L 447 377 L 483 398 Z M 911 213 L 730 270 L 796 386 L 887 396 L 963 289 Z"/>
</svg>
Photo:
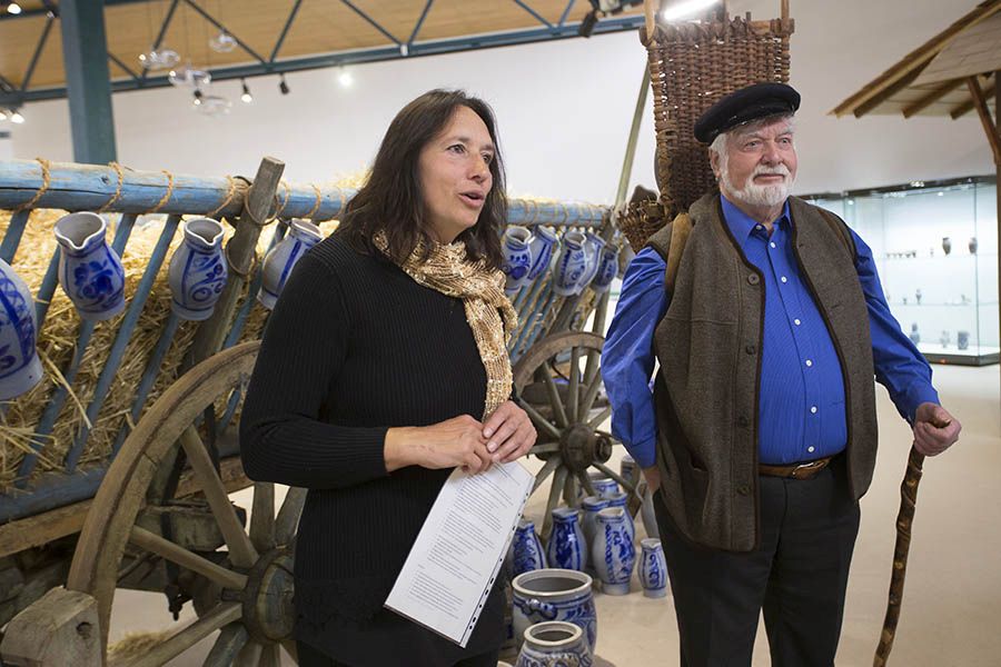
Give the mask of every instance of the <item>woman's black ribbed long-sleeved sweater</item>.
<svg viewBox="0 0 1001 667">
<path fill-rule="evenodd" d="M 459 299 L 338 235 L 296 265 L 240 418 L 247 476 L 309 489 L 296 538 L 296 637 L 350 665 L 450 665 L 502 640 L 499 587 L 469 645 L 383 608 L 452 472 L 386 471 L 390 427 L 483 416 L 486 372 Z"/>
</svg>

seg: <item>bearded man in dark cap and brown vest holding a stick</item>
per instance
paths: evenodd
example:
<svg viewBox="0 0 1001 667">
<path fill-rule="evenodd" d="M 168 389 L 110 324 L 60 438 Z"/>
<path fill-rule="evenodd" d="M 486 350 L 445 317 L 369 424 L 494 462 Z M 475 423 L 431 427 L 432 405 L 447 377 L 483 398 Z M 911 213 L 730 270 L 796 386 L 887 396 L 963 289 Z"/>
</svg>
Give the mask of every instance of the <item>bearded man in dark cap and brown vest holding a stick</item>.
<svg viewBox="0 0 1001 667">
<path fill-rule="evenodd" d="M 762 609 L 773 665 L 833 665 L 875 462 L 873 375 L 919 451 L 960 432 L 869 247 L 789 196 L 799 104 L 759 83 L 698 120 L 720 193 L 688 211 L 672 293 L 672 226 L 630 265 L 603 352 L 613 432 L 658 489 L 686 667 L 750 665 Z"/>
</svg>

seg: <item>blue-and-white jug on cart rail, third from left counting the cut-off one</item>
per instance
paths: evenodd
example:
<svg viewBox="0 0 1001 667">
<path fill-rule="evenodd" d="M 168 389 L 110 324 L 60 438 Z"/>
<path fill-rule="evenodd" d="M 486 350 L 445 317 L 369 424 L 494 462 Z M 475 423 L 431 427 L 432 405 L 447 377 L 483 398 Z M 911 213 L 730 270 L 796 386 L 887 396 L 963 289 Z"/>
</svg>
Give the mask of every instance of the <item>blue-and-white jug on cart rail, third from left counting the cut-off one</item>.
<svg viewBox="0 0 1001 667">
<path fill-rule="evenodd" d="M 222 225 L 211 218 L 195 218 L 186 220 L 181 230 L 184 242 L 167 269 L 174 295 L 170 309 L 184 319 L 201 321 L 211 317 L 226 287 Z"/>
</svg>

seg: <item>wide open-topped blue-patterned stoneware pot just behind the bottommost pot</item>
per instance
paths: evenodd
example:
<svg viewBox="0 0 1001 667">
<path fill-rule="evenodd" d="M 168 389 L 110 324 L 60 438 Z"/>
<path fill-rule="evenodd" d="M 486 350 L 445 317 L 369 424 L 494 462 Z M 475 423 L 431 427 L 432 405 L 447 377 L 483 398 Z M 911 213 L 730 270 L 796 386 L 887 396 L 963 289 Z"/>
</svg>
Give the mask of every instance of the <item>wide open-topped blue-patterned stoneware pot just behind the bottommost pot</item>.
<svg viewBox="0 0 1001 667">
<path fill-rule="evenodd" d="M 549 568 L 518 575 L 514 591 L 514 635 L 521 646 L 528 626 L 547 620 L 564 620 L 584 630 L 587 646 L 597 643 L 597 614 L 592 586 L 594 579 L 576 570 Z"/>
</svg>

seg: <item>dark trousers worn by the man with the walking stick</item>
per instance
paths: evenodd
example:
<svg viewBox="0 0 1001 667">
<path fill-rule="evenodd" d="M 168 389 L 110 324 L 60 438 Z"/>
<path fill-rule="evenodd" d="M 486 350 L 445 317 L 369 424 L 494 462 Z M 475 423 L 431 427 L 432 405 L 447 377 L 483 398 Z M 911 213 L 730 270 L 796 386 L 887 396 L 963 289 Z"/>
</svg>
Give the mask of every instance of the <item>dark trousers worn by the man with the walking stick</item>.
<svg viewBox="0 0 1001 667">
<path fill-rule="evenodd" d="M 760 477 L 761 546 L 747 554 L 685 541 L 654 497 L 683 667 L 750 666 L 762 610 L 773 667 L 834 665 L 859 532 L 843 458 L 813 479 Z"/>
</svg>

